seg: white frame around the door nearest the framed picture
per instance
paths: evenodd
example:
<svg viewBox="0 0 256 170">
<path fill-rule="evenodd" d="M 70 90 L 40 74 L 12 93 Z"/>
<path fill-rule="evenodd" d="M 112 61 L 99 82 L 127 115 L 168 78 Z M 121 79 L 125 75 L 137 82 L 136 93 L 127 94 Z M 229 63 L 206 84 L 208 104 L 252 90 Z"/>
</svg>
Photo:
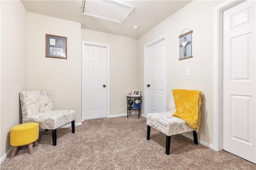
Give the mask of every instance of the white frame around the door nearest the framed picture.
<svg viewBox="0 0 256 170">
<path fill-rule="evenodd" d="M 96 43 L 96 42 L 88 42 L 88 41 L 82 41 L 82 121 L 85 120 L 85 105 L 83 104 L 83 101 L 86 100 L 85 96 L 85 90 L 84 85 L 85 85 L 85 78 L 84 76 L 86 75 L 85 73 L 85 56 L 84 56 L 84 45 L 91 45 L 91 46 L 96 46 L 96 47 L 104 47 L 106 48 L 106 68 L 107 68 L 107 82 L 106 82 L 106 117 L 108 118 L 110 116 L 110 82 L 109 82 L 109 77 L 110 77 L 110 71 L 109 71 L 109 45 L 104 44 L 104 43 Z"/>
</svg>

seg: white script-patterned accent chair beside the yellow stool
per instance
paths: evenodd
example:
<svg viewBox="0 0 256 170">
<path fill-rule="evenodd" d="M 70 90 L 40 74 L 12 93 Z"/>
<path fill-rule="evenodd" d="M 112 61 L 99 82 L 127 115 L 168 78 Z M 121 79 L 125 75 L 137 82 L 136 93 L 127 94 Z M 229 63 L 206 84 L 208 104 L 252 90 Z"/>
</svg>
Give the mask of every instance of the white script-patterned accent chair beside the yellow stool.
<svg viewBox="0 0 256 170">
<path fill-rule="evenodd" d="M 52 130 L 52 145 L 57 144 L 57 128 L 71 122 L 75 132 L 76 112 L 53 110 L 52 95 L 48 90 L 20 92 L 22 123 L 39 123 L 40 129 Z"/>
</svg>

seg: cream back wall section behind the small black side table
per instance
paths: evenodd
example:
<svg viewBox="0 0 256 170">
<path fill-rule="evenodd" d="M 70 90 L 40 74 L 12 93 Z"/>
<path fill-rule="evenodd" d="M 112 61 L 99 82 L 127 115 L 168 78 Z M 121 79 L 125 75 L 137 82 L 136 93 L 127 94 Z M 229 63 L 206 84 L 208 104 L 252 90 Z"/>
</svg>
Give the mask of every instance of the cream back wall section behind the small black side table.
<svg viewBox="0 0 256 170">
<path fill-rule="evenodd" d="M 110 117 L 127 113 L 126 95 L 138 88 L 137 39 L 82 29 L 82 40 L 110 45 Z"/>
</svg>

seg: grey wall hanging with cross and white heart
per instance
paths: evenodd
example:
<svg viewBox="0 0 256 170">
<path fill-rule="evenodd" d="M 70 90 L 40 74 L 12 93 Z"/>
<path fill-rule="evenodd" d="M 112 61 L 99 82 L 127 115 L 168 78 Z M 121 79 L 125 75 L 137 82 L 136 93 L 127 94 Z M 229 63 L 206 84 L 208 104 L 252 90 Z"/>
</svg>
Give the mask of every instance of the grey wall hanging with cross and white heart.
<svg viewBox="0 0 256 170">
<path fill-rule="evenodd" d="M 185 34 L 182 34 L 179 36 L 180 38 L 180 58 L 187 59 L 192 58 L 192 32 L 193 30 L 186 32 Z"/>
</svg>

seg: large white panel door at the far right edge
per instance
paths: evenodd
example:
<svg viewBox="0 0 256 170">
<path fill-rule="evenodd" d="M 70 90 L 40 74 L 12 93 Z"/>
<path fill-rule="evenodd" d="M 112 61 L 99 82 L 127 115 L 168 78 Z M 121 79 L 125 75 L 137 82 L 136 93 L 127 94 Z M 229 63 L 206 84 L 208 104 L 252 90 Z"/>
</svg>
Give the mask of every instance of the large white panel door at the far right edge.
<svg viewBox="0 0 256 170">
<path fill-rule="evenodd" d="M 223 12 L 223 150 L 256 163 L 255 1 Z"/>
</svg>

